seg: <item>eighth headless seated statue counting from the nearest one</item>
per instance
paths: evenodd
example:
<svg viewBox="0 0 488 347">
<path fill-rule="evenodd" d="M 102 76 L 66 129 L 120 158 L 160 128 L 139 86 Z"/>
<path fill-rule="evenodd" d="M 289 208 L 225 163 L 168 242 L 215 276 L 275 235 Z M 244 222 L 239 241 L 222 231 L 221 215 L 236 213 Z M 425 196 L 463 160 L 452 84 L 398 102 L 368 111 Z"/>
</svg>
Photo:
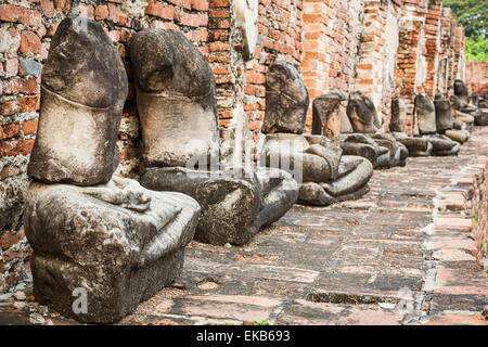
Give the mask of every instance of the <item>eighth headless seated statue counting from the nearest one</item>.
<svg viewBox="0 0 488 347">
<path fill-rule="evenodd" d="M 466 142 L 470 138 L 470 131 L 465 127 L 463 128 L 462 123 L 454 123 L 451 115 L 450 101 L 437 94 L 434 100 L 434 106 L 436 108 L 436 131 L 461 144 Z"/>
</svg>

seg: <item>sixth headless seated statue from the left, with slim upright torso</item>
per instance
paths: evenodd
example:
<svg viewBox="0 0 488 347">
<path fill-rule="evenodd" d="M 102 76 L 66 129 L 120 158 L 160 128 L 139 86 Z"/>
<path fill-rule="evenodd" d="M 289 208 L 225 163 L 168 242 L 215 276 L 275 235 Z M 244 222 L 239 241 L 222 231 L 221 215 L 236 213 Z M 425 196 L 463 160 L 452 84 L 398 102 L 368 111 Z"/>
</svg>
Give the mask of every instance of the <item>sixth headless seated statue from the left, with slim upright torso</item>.
<svg viewBox="0 0 488 347">
<path fill-rule="evenodd" d="M 391 117 L 389 121 L 389 131 L 391 136 L 402 143 L 409 151 L 409 156 L 429 156 L 432 143 L 421 137 L 408 137 L 406 134 L 407 110 L 404 101 L 400 98 L 391 100 Z"/>
</svg>

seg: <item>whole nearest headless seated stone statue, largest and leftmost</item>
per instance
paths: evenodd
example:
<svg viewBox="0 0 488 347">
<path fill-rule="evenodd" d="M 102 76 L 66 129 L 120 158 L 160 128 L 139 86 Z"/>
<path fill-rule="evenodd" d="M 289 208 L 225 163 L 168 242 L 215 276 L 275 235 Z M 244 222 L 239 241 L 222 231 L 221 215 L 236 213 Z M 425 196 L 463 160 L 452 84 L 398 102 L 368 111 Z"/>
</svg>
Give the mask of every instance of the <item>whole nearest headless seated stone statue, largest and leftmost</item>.
<svg viewBox="0 0 488 347">
<path fill-rule="evenodd" d="M 169 285 L 198 218 L 190 196 L 112 176 L 127 91 L 103 28 L 61 22 L 42 69 L 24 222 L 36 300 L 81 322 L 120 320 Z"/>
</svg>

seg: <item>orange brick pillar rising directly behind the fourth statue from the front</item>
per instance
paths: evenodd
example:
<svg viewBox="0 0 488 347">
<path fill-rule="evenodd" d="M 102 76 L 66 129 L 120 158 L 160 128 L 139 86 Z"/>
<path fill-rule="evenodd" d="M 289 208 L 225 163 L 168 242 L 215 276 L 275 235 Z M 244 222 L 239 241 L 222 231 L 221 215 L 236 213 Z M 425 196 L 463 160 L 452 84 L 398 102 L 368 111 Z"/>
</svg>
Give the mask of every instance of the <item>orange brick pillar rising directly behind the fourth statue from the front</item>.
<svg viewBox="0 0 488 347">
<path fill-rule="evenodd" d="M 310 103 L 331 91 L 348 94 L 356 83 L 357 47 L 362 26 L 362 0 L 304 2 L 301 76 Z M 310 130 L 311 107 L 307 128 Z"/>
</svg>

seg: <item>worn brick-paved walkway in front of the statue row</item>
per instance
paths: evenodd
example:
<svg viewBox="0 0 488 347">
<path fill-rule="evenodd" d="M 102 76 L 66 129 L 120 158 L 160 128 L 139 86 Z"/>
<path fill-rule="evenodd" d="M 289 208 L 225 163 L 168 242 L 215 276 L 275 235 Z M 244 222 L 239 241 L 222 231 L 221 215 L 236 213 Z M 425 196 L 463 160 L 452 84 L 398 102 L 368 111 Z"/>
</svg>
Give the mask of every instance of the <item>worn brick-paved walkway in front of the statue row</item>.
<svg viewBox="0 0 488 347">
<path fill-rule="evenodd" d="M 458 157 L 375 171 L 360 201 L 295 205 L 242 247 L 192 242 L 177 283 L 120 324 L 487 325 L 487 274 L 460 210 L 487 154 L 476 128 Z M 75 323 L 29 293 L 0 304 L 0 324 Z"/>
</svg>

